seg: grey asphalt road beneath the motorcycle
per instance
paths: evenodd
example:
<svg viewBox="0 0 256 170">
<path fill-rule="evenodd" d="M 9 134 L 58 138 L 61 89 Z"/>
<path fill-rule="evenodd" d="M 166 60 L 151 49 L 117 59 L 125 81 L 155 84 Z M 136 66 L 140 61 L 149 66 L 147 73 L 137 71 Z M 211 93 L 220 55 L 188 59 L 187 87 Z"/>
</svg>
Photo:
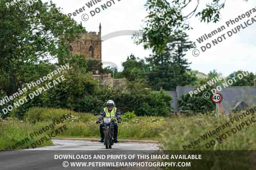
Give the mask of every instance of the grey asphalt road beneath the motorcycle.
<svg viewBox="0 0 256 170">
<path fill-rule="evenodd" d="M 59 170 L 59 169 L 121 169 L 122 167 L 114 166 L 94 166 L 89 162 L 116 162 L 116 161 L 134 161 L 141 162 L 143 159 L 127 159 L 128 155 L 143 155 L 148 153 L 155 153 L 158 150 L 156 144 L 143 143 L 117 143 L 112 146 L 112 149 L 106 149 L 103 143 L 81 141 L 81 140 L 53 140 L 54 146 L 39 147 L 35 149 L 25 149 L 20 151 L 4 151 L 0 152 L 0 169 L 1 170 Z M 63 155 L 73 155 L 75 159 L 63 159 Z M 80 155 L 80 159 L 76 156 Z M 92 159 L 94 155 L 101 155 L 101 158 Z M 123 158 L 109 158 L 102 159 L 108 155 L 126 155 Z M 83 159 L 81 159 L 81 157 Z M 85 157 L 88 157 L 87 159 Z M 90 160 L 89 160 L 90 159 Z M 66 164 L 63 166 L 63 162 Z M 72 166 L 71 162 L 87 162 L 86 167 Z M 132 169 L 132 168 L 129 168 Z"/>
</svg>

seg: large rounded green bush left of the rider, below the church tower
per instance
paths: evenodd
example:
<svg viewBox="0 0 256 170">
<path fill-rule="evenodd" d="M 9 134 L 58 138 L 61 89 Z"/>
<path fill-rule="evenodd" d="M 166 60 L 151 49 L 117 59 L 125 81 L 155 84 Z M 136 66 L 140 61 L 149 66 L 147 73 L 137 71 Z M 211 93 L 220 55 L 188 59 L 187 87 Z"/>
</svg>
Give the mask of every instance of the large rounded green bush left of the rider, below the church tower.
<svg viewBox="0 0 256 170">
<path fill-rule="evenodd" d="M 56 107 L 56 108 L 68 108 L 75 111 L 86 112 L 91 111 L 92 107 L 97 103 L 97 100 L 88 100 L 93 97 L 94 88 L 97 84 L 96 80 L 92 79 L 92 74 L 87 72 L 86 74 L 79 71 L 70 70 L 61 73 L 65 80 L 58 82 L 57 85 L 43 91 L 42 94 L 35 96 L 33 99 L 29 98 L 29 94 L 35 92 L 38 88 L 51 82 L 52 80 L 60 77 L 60 74 L 52 77 L 51 80 L 45 81 L 41 86 L 36 86 L 28 89 L 26 93 L 20 95 L 14 99 L 14 102 L 18 102 L 21 98 L 27 96 L 28 102 L 25 102 L 20 107 L 16 107 L 11 111 L 11 116 L 23 118 L 24 113 L 31 107 Z M 83 101 L 83 99 L 87 99 Z M 85 103 L 86 102 L 86 103 Z M 92 105 L 92 107 L 87 107 Z M 89 108 L 89 109 L 88 109 Z"/>
</svg>

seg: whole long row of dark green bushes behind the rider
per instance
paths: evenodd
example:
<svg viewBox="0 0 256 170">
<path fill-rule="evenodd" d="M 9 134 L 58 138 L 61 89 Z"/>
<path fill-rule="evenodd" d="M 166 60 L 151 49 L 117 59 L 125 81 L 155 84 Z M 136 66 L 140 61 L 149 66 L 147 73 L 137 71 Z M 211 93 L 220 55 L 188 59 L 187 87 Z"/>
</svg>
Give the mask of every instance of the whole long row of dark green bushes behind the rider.
<svg viewBox="0 0 256 170">
<path fill-rule="evenodd" d="M 14 99 L 18 102 L 27 96 L 28 102 L 14 108 L 11 115 L 23 118 L 24 113 L 31 107 L 55 107 L 70 109 L 76 112 L 97 113 L 106 107 L 106 101 L 114 100 L 115 107 L 122 113 L 134 111 L 137 116 L 165 116 L 171 112 L 172 97 L 169 94 L 152 92 L 145 89 L 140 82 L 131 82 L 132 88 L 124 91 L 121 88 L 113 89 L 108 87 L 98 87 L 97 80 L 92 78 L 91 72 L 82 73 L 76 70 L 63 72 L 65 80 L 57 85 L 43 91 L 42 94 L 30 99 L 29 93 L 33 93 L 40 86 L 28 90 L 28 92 Z M 55 75 L 48 82 L 56 79 L 60 75 Z M 44 82 L 44 87 L 46 83 Z"/>
</svg>

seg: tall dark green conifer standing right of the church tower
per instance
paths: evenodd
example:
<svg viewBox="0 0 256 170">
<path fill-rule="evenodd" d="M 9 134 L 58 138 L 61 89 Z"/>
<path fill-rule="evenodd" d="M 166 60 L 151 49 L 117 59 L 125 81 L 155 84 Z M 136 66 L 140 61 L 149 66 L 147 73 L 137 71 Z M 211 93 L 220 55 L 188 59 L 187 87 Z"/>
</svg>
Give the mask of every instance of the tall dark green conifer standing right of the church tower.
<svg viewBox="0 0 256 170">
<path fill-rule="evenodd" d="M 184 58 L 184 49 L 191 48 L 188 35 L 177 31 L 169 37 L 167 46 L 161 53 L 146 58 L 151 67 L 149 84 L 154 90 L 175 90 L 177 85 L 184 86 L 196 80 L 196 75 L 189 72 L 188 60 Z"/>
</svg>

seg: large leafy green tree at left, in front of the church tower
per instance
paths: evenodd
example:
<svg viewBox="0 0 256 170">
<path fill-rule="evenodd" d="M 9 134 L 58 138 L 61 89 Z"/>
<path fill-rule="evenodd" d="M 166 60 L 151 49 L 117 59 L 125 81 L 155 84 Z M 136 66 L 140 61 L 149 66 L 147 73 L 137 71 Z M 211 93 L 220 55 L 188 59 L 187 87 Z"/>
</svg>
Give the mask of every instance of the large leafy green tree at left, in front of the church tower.
<svg viewBox="0 0 256 170">
<path fill-rule="evenodd" d="M 61 64 L 70 57 L 68 43 L 86 32 L 52 2 L 38 0 L 21 11 L 24 2 L 9 8 L 0 2 L 0 89 L 8 96 L 49 73 L 53 59 L 59 57 Z"/>
</svg>

